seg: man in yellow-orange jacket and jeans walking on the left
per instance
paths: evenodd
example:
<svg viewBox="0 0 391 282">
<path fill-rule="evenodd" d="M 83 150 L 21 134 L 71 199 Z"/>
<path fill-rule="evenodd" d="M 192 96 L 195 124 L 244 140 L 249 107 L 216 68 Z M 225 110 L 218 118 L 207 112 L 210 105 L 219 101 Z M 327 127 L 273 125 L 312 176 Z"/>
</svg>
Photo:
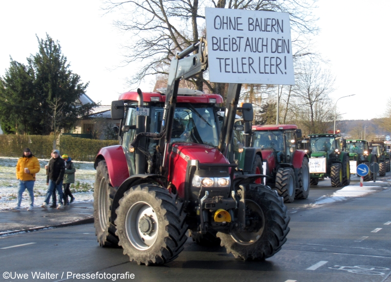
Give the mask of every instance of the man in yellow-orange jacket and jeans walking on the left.
<svg viewBox="0 0 391 282">
<path fill-rule="evenodd" d="M 30 207 L 27 211 L 33 210 L 35 174 L 37 174 L 40 169 L 40 162 L 38 159 L 33 155 L 29 148 L 25 148 L 23 150 L 23 156 L 16 164 L 16 179 L 19 180 L 19 191 L 17 206 L 14 210 L 19 211 L 21 209 L 22 194 L 26 189 L 30 195 Z"/>
</svg>

